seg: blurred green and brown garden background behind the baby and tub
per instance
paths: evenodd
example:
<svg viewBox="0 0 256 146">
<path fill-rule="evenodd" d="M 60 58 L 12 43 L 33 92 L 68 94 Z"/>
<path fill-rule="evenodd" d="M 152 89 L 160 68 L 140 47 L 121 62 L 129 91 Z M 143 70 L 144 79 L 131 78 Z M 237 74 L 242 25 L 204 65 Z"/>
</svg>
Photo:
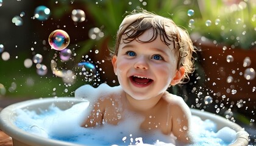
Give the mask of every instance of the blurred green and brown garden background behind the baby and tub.
<svg viewBox="0 0 256 146">
<path fill-rule="evenodd" d="M 238 123 L 255 145 L 255 0 L 0 0 L 0 107 L 73 97 L 85 84 L 118 85 L 108 49 L 134 9 L 173 19 L 199 50 L 188 83 L 169 92 Z M 59 29 L 70 42 L 51 47 Z"/>
</svg>

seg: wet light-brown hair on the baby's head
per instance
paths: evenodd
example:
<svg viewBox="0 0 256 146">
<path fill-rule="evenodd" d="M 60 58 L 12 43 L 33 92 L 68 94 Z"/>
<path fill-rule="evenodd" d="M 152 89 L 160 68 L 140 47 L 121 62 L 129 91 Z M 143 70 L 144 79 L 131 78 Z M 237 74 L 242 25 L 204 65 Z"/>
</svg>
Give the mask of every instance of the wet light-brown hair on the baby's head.
<svg viewBox="0 0 256 146">
<path fill-rule="evenodd" d="M 153 30 L 152 38 L 147 41 L 139 40 L 138 37 L 149 29 Z M 187 30 L 177 26 L 170 18 L 165 18 L 146 10 L 129 12 L 129 15 L 123 19 L 119 26 L 115 47 L 110 50 L 110 55 L 111 57 L 118 55 L 118 48 L 121 43 L 130 43 L 133 40 L 140 43 L 149 43 L 157 39 L 158 36 L 166 46 L 173 42 L 174 52 L 178 58 L 177 69 L 179 70 L 181 66 L 185 69 L 185 75 L 181 82 L 183 83 L 184 79 L 189 79 L 188 75 L 194 71 L 192 54 L 195 49 Z"/>
</svg>

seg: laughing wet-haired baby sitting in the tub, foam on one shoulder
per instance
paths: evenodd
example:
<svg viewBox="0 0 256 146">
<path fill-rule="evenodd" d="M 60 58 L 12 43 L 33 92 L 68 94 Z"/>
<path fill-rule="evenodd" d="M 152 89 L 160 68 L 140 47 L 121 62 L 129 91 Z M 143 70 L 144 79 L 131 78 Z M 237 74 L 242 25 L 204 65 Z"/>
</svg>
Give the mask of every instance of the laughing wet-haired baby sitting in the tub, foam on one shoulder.
<svg viewBox="0 0 256 146">
<path fill-rule="evenodd" d="M 176 144 L 191 144 L 190 108 L 166 90 L 193 71 L 193 52 L 190 36 L 171 19 L 146 10 L 131 12 L 119 26 L 112 51 L 120 86 L 103 84 L 94 90 L 85 85 L 75 92 L 76 98 L 91 102 L 82 127 L 118 125 L 129 111 L 144 117 L 140 130 L 158 130 L 175 136 Z"/>
</svg>

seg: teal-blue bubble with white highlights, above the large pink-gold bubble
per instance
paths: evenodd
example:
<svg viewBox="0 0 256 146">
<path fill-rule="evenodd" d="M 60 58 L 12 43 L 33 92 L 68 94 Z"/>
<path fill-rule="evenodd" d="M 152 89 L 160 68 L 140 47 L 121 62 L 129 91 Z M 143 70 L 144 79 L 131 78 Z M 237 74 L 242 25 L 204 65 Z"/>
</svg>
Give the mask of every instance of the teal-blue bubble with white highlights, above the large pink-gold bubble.
<svg viewBox="0 0 256 146">
<path fill-rule="evenodd" d="M 35 9 L 34 15 L 40 21 L 46 21 L 51 14 L 50 9 L 44 5 L 40 5 Z"/>
</svg>

